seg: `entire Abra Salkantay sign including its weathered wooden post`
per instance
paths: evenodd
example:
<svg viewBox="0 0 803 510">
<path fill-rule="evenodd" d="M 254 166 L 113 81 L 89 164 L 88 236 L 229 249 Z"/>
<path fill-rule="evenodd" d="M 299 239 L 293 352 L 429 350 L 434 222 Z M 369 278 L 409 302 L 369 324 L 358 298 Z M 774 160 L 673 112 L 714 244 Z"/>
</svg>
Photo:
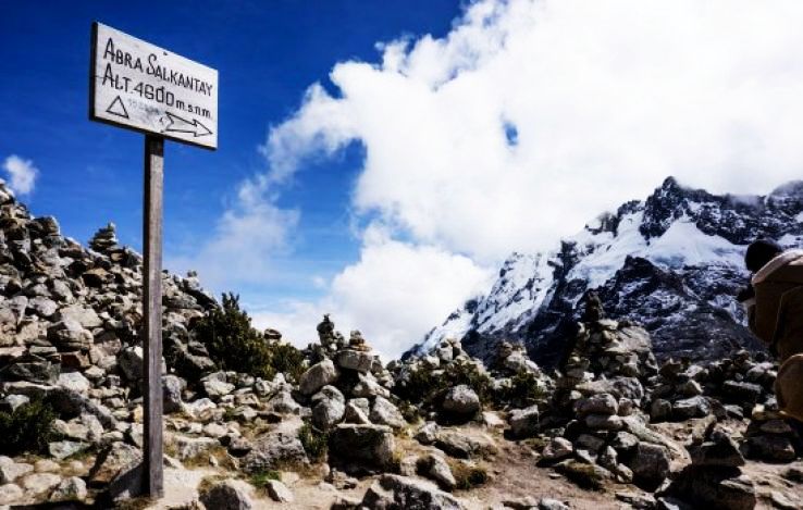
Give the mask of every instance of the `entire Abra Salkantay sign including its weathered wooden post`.
<svg viewBox="0 0 803 510">
<path fill-rule="evenodd" d="M 218 148 L 218 71 L 94 23 L 89 119 L 145 134 L 143 490 L 161 497 L 164 139 Z"/>
</svg>

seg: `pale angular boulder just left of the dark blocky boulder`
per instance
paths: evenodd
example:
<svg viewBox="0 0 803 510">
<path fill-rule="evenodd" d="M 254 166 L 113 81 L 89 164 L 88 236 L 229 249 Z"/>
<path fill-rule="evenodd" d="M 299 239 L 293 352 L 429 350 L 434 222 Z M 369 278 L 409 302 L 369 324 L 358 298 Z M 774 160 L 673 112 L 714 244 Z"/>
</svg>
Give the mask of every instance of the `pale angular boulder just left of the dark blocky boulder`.
<svg viewBox="0 0 803 510">
<path fill-rule="evenodd" d="M 274 470 L 282 464 L 307 462 L 307 453 L 298 439 L 300 423 L 282 422 L 276 430 L 260 436 L 243 458 L 247 473 Z"/>
</svg>

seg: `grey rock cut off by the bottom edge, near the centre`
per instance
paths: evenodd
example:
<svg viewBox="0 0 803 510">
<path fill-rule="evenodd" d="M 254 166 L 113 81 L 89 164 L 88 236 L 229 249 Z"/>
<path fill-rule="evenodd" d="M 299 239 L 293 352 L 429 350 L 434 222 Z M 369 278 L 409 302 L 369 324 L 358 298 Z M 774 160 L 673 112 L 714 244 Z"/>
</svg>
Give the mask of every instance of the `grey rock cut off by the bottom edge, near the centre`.
<svg viewBox="0 0 803 510">
<path fill-rule="evenodd" d="M 360 508 L 368 510 L 461 510 L 465 507 L 434 485 L 407 476 L 382 475 L 366 492 Z"/>
</svg>

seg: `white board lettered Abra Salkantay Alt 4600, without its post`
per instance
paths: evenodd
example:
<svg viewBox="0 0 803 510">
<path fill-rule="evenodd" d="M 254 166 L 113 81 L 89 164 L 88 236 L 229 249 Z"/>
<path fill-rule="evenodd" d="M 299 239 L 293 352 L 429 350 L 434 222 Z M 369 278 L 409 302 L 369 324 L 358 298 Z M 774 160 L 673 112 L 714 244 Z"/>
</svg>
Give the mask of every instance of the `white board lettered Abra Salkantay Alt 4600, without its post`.
<svg viewBox="0 0 803 510">
<path fill-rule="evenodd" d="M 89 117 L 218 148 L 218 71 L 92 24 Z"/>
</svg>

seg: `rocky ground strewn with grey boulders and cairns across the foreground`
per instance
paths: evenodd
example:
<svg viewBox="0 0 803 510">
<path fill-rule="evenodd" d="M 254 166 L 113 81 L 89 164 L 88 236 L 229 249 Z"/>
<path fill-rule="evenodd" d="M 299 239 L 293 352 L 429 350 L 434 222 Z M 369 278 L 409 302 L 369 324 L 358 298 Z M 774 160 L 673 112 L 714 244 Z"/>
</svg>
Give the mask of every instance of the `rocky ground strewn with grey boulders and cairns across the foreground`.
<svg viewBox="0 0 803 510">
<path fill-rule="evenodd" d="M 139 256 L 113 225 L 84 248 L 1 187 L 0 234 L 0 507 L 803 508 L 767 359 L 658 364 L 589 296 L 548 373 L 507 343 L 384 365 L 324 318 L 299 366 L 259 377 L 221 370 L 196 327 L 219 303 L 166 273 L 165 497 L 136 497 Z"/>
</svg>

